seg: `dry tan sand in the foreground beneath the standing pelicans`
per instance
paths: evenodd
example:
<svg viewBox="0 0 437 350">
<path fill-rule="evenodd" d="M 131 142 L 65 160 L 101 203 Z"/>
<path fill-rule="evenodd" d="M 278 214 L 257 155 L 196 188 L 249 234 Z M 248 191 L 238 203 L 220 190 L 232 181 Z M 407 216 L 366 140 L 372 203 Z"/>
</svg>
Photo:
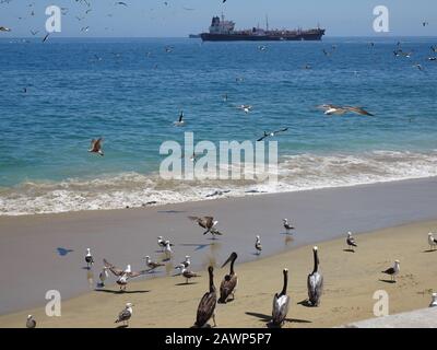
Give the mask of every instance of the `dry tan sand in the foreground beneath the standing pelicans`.
<svg viewBox="0 0 437 350">
<path fill-rule="evenodd" d="M 256 261 L 237 264 L 236 300 L 217 305 L 218 327 L 265 327 L 272 298 L 282 288 L 282 269 L 290 270 L 292 303 L 285 327 L 332 327 L 374 317 L 377 290 L 390 296 L 390 313 L 426 307 L 437 290 L 437 250 L 427 252 L 427 233 L 437 221 L 417 222 L 356 236 L 356 253 L 344 252 L 345 240 L 319 244 L 324 294 L 319 307 L 299 302 L 307 298 L 306 278 L 312 268 L 311 246 L 298 247 Z M 401 261 L 397 283 L 388 283 L 380 271 L 394 259 Z M 227 269 L 215 269 L 215 285 Z M 116 327 L 114 320 L 126 302 L 135 304 L 131 327 L 190 327 L 198 303 L 208 289 L 206 271 L 192 284 L 181 277 L 158 277 L 132 282 L 128 292 L 116 285 L 62 303 L 61 317 L 47 317 L 44 307 L 0 316 L 0 327 L 23 327 L 33 314 L 38 327 Z"/>
</svg>

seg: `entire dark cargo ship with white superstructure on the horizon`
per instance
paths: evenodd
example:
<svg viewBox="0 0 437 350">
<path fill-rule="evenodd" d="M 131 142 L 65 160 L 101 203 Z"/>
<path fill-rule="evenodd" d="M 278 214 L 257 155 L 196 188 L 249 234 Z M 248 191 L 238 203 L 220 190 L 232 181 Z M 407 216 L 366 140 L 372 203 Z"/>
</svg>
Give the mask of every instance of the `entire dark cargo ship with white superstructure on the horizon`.
<svg viewBox="0 0 437 350">
<path fill-rule="evenodd" d="M 265 30 L 253 27 L 251 30 L 235 31 L 233 21 L 225 21 L 218 16 L 212 18 L 210 32 L 201 33 L 200 37 L 203 42 L 280 42 L 280 40 L 321 40 L 324 30 L 320 27 L 312 30 L 297 28 L 290 30 L 269 30 L 269 21 L 267 21 Z"/>
</svg>

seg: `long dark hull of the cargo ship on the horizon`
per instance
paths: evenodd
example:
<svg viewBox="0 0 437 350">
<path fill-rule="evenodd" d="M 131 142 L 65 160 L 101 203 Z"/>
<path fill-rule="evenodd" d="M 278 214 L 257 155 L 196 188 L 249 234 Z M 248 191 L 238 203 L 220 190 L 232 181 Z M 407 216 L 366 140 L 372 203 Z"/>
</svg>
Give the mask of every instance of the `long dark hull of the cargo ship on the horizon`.
<svg viewBox="0 0 437 350">
<path fill-rule="evenodd" d="M 248 34 L 211 34 L 202 33 L 200 37 L 203 42 L 300 42 L 300 40 L 321 40 L 324 31 L 310 34 L 296 35 L 248 35 Z"/>
</svg>

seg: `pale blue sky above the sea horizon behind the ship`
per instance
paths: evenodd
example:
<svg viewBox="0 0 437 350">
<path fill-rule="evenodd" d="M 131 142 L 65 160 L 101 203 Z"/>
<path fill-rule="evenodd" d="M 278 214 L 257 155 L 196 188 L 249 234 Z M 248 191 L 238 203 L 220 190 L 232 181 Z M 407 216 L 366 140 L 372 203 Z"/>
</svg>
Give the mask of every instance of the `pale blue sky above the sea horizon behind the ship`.
<svg viewBox="0 0 437 350">
<path fill-rule="evenodd" d="M 44 33 L 48 5 L 68 9 L 61 18 L 61 33 L 54 34 L 59 37 L 185 37 L 208 31 L 211 18 L 222 13 L 236 22 L 236 28 L 264 26 L 268 15 L 271 28 L 320 24 L 327 36 L 437 35 L 436 0 L 122 1 L 128 5 L 116 4 L 118 0 L 0 0 L 0 26 L 11 28 L 0 32 L 0 38 L 32 36 L 31 30 Z M 389 33 L 374 31 L 377 5 L 389 10 Z M 423 26 L 423 22 L 428 24 Z"/>
</svg>

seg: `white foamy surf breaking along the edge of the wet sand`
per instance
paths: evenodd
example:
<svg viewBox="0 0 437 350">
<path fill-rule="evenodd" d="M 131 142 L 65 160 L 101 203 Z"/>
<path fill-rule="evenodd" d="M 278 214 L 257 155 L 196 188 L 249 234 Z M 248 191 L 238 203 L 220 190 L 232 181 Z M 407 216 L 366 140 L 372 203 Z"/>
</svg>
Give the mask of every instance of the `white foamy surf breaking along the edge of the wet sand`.
<svg viewBox="0 0 437 350">
<path fill-rule="evenodd" d="M 437 151 L 298 154 L 282 159 L 276 185 L 255 180 L 163 180 L 123 173 L 93 179 L 27 182 L 0 189 L 0 215 L 135 208 L 261 192 L 285 192 L 437 176 Z"/>
</svg>

